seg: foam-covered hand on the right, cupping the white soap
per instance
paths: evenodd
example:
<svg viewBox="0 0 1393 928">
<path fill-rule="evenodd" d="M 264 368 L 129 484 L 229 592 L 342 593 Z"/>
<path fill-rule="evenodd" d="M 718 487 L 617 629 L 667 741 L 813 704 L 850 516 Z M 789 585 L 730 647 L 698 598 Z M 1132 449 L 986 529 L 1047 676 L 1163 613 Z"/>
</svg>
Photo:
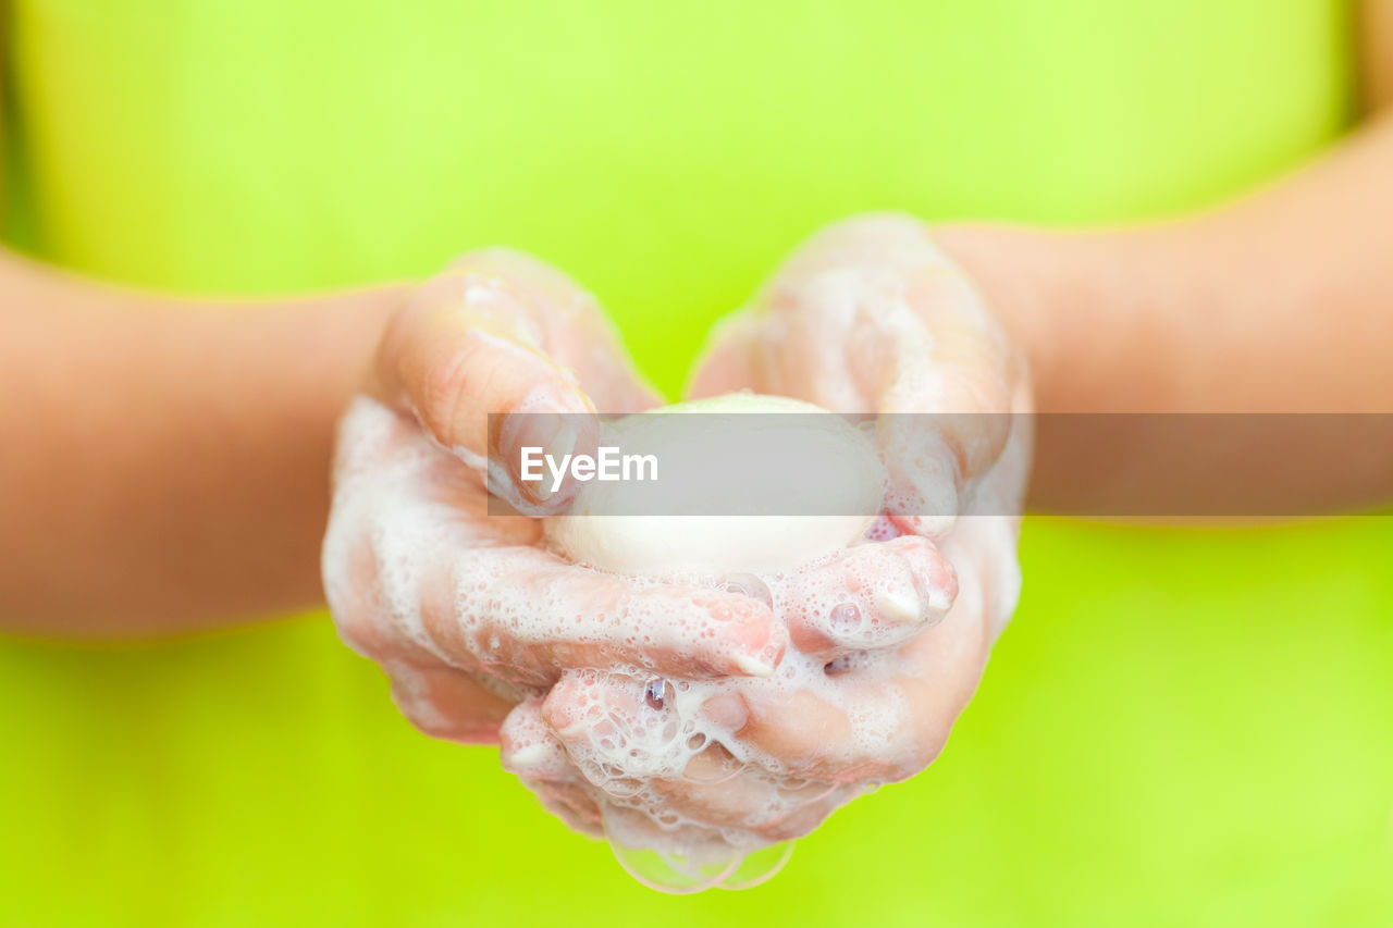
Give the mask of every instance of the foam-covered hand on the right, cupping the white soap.
<svg viewBox="0 0 1393 928">
<path fill-rule="evenodd" d="M 926 227 L 855 219 L 800 249 L 758 305 L 726 323 L 694 393 L 737 389 L 839 412 L 968 414 L 882 419 L 892 475 L 885 535 L 893 538 L 844 556 L 918 549 L 911 578 L 919 591 L 947 588 L 933 575 L 946 559 L 956 601 L 942 621 L 939 610 L 904 637 L 847 635 L 807 609 L 807 584 L 825 594 L 833 564 L 776 591 L 795 649 L 770 680 L 694 684 L 695 695 L 655 708 L 642 679 L 563 676 L 546 698 L 514 711 L 503 748 L 504 764 L 574 826 L 595 832 L 607 815 L 624 840 L 644 843 L 648 833 L 657 846 L 674 840 L 673 829 L 687 842 L 804 835 L 865 789 L 912 776 L 937 757 L 1015 608 L 1015 513 L 1029 433 L 1028 417 L 1002 414 L 1029 411 L 1025 371 Z M 869 592 L 861 613 L 885 623 L 875 594 L 896 574 L 873 563 L 859 573 L 869 582 L 859 592 L 848 582 L 833 601 Z M 667 750 L 642 736 L 698 715 L 720 734 L 681 771 L 616 778 L 598 762 L 616 733 L 638 737 L 645 751 Z"/>
</svg>

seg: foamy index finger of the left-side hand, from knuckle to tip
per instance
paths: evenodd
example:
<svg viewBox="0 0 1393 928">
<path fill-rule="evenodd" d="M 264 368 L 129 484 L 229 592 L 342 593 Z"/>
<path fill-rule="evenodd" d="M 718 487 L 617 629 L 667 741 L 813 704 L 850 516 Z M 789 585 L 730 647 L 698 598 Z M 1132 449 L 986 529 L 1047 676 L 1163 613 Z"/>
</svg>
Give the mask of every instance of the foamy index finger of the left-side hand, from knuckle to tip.
<svg viewBox="0 0 1393 928">
<path fill-rule="evenodd" d="M 336 499 L 326 589 L 359 649 L 425 651 L 520 693 L 549 686 L 561 666 L 768 676 L 780 660 L 787 631 L 768 603 L 577 567 L 497 532 L 481 538 L 478 520 L 422 488 L 429 460 L 417 449 L 400 472 L 375 471 L 376 482 Z"/>
</svg>

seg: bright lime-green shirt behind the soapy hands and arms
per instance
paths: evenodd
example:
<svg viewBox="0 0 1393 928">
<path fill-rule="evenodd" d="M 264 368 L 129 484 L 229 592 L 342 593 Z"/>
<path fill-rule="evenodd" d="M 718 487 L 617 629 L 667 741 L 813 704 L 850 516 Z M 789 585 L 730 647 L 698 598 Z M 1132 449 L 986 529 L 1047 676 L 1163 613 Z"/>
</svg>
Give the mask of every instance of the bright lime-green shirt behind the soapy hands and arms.
<svg viewBox="0 0 1393 928">
<path fill-rule="evenodd" d="M 1323 0 L 20 0 L 15 217 L 117 280 L 281 293 L 534 251 L 676 394 L 709 323 L 865 209 L 1211 202 L 1343 125 Z M 748 893 L 669 899 L 486 748 L 414 733 L 323 616 L 0 642 L 0 921 L 1385 925 L 1393 520 L 1028 520 L 924 776 Z"/>
</svg>

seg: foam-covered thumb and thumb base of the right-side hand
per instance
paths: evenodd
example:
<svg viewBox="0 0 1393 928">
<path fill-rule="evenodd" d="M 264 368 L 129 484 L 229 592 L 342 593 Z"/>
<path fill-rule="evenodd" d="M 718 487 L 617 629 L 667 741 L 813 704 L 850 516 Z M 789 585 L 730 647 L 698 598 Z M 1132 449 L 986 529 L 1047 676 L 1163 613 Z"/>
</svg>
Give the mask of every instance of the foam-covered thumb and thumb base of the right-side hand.
<svg viewBox="0 0 1393 928">
<path fill-rule="evenodd" d="M 918 220 L 861 216 L 800 248 L 766 300 L 784 316 L 770 337 L 788 343 L 773 379 L 837 411 L 876 410 L 889 511 L 904 531 L 946 534 L 1004 446 L 1024 376 L 967 274 Z"/>
</svg>

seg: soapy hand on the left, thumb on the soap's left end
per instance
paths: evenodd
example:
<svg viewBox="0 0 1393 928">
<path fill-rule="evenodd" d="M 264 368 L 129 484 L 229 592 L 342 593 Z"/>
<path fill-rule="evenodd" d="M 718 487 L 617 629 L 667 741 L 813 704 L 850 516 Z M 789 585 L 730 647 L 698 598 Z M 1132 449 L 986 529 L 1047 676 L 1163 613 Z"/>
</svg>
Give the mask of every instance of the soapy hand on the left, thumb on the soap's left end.
<svg viewBox="0 0 1393 928">
<path fill-rule="evenodd" d="M 545 417 L 510 414 L 593 421 L 656 400 L 564 274 L 510 251 L 465 255 L 387 325 L 364 392 L 340 425 L 325 591 L 340 635 L 423 732 L 496 741 L 514 705 L 571 669 L 762 676 L 781 658 L 787 631 L 762 602 L 540 548 L 536 516 L 573 486 L 543 497 L 495 472 L 517 511 L 489 514 L 490 453 L 515 460 L 520 431 L 547 450 L 556 439 L 531 433 Z M 566 440 L 582 450 L 596 433 Z"/>
</svg>

